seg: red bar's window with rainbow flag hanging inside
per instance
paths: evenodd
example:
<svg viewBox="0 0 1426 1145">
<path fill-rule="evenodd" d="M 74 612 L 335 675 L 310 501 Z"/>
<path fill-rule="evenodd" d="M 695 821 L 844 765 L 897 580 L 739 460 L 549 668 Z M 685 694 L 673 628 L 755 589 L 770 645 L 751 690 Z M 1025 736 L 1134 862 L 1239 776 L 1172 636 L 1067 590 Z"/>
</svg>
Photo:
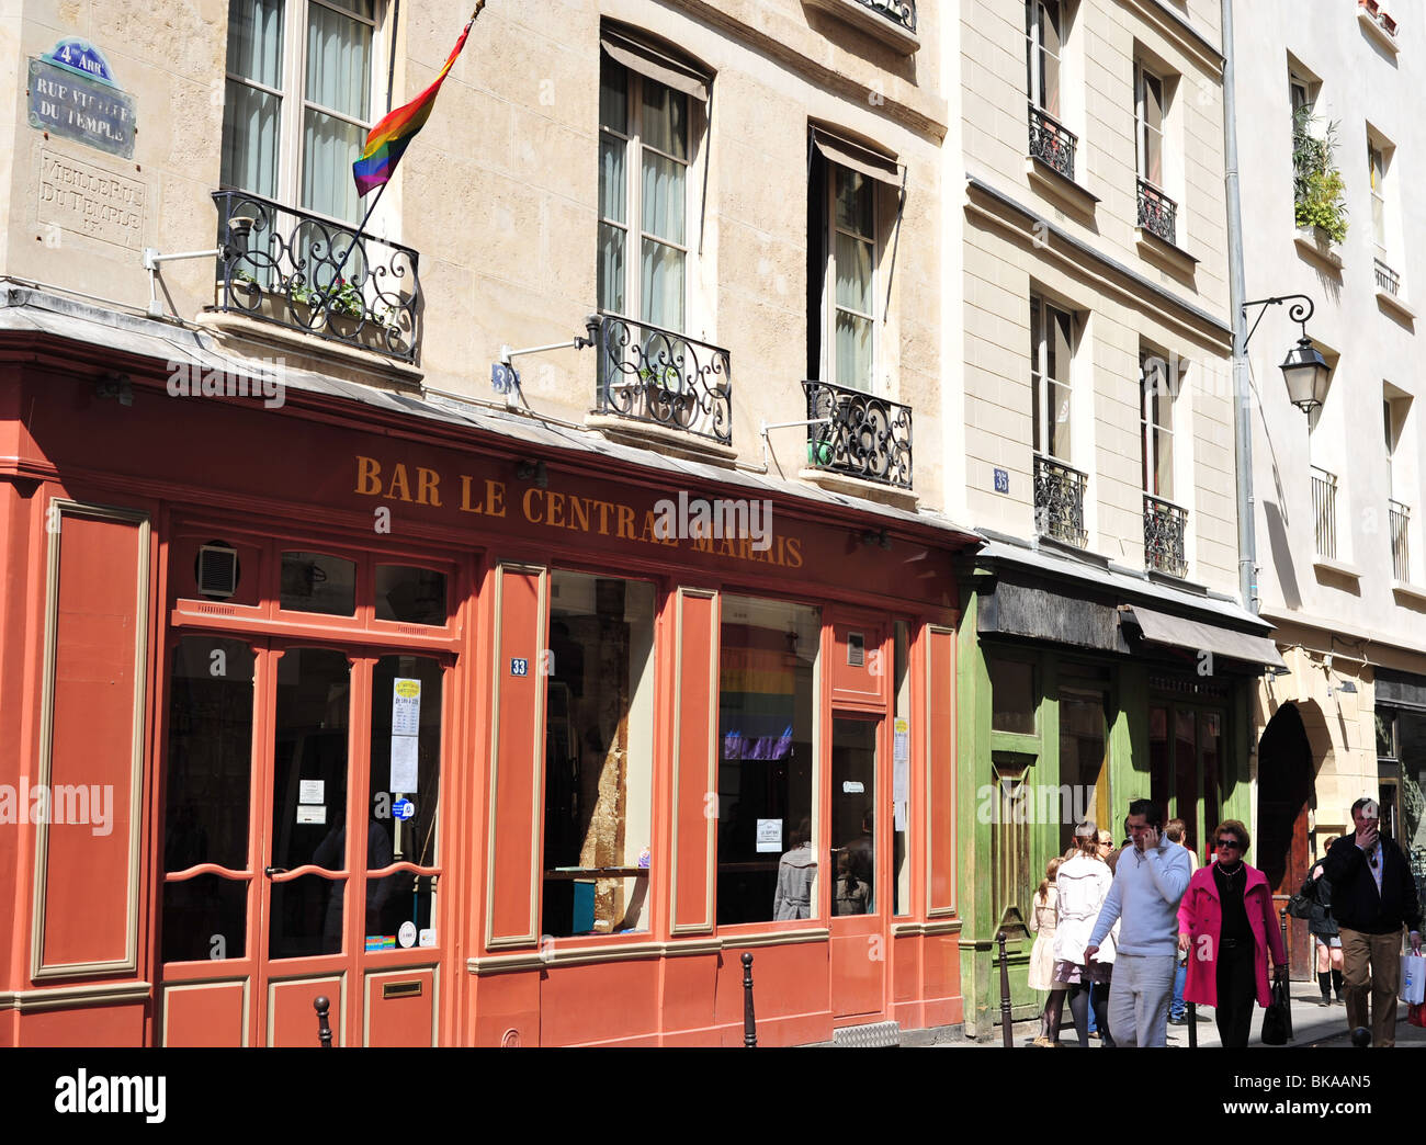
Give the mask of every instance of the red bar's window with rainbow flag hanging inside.
<svg viewBox="0 0 1426 1145">
<path fill-rule="evenodd" d="M 814 607 L 723 597 L 720 925 L 817 915 L 813 693 L 820 640 Z"/>
</svg>

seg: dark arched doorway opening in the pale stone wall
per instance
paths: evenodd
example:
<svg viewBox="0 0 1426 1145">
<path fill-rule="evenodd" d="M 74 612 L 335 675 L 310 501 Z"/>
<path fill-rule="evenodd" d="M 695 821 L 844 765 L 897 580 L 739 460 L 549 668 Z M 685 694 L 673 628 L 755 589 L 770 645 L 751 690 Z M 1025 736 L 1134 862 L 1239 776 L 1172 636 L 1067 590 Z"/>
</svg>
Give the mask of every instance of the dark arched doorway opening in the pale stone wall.
<svg viewBox="0 0 1426 1145">
<path fill-rule="evenodd" d="M 1258 837 L 1253 866 L 1282 910 L 1310 867 L 1308 817 L 1316 806 L 1312 743 L 1295 703 L 1278 709 L 1258 741 Z M 1293 978 L 1312 977 L 1312 940 L 1305 920 L 1292 918 L 1289 961 Z"/>
</svg>

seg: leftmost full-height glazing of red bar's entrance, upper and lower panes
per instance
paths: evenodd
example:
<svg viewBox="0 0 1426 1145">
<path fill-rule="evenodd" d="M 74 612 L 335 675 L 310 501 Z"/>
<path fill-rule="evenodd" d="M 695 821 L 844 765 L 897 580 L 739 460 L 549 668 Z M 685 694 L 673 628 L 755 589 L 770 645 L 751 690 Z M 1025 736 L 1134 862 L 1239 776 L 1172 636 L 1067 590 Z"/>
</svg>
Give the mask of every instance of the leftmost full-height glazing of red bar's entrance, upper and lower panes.
<svg viewBox="0 0 1426 1145">
<path fill-rule="evenodd" d="M 163 960 L 247 954 L 254 653 L 185 636 L 173 652 L 164 787 L 164 873 L 204 863 L 227 874 L 164 881 Z"/>
</svg>

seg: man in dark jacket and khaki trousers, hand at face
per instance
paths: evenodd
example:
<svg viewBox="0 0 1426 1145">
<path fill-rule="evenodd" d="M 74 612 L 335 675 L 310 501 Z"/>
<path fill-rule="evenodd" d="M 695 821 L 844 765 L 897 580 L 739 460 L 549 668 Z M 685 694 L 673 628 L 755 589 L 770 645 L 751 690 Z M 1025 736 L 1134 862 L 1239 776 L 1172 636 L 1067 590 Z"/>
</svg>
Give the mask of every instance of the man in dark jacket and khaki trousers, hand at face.
<svg viewBox="0 0 1426 1145">
<path fill-rule="evenodd" d="M 1323 871 L 1332 880 L 1332 914 L 1342 934 L 1348 1028 L 1368 1024 L 1370 991 L 1372 1044 L 1396 1045 L 1402 925 L 1410 928 L 1412 953 L 1420 954 L 1422 918 L 1412 868 L 1402 848 L 1382 838 L 1379 816 L 1375 800 L 1353 803 L 1356 834 L 1332 844 Z"/>
</svg>

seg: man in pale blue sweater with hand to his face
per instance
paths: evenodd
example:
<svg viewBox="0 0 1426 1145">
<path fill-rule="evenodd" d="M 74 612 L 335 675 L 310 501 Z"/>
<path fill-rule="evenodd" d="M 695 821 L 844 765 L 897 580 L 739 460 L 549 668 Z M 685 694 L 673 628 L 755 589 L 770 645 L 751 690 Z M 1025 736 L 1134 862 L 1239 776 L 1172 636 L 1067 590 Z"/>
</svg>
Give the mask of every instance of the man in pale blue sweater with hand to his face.
<svg viewBox="0 0 1426 1145">
<path fill-rule="evenodd" d="M 1192 871 L 1188 851 L 1162 834 L 1164 813 L 1148 799 L 1129 804 L 1134 848 L 1119 856 L 1089 943 L 1094 958 L 1115 920 L 1119 921 L 1114 985 L 1109 990 L 1109 1032 L 1115 1045 L 1166 1045 L 1168 1004 L 1178 961 L 1178 903 Z"/>
</svg>

